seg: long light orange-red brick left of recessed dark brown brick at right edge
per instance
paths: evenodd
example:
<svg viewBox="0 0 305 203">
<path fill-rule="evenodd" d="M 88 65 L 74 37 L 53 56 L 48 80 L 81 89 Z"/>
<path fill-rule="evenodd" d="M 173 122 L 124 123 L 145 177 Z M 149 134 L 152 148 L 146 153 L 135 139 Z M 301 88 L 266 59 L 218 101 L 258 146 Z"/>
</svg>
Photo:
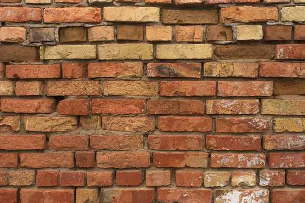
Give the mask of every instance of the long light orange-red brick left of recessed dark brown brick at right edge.
<svg viewBox="0 0 305 203">
<path fill-rule="evenodd" d="M 217 96 L 272 96 L 273 82 L 219 81 Z"/>
</svg>

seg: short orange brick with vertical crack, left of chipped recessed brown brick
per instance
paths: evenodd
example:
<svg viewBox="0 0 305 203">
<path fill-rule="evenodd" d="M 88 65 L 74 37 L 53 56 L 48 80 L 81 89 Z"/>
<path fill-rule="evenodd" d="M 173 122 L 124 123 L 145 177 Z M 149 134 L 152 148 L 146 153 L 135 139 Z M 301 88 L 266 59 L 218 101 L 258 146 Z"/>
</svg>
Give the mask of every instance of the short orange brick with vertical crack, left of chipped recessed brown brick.
<svg viewBox="0 0 305 203">
<path fill-rule="evenodd" d="M 202 26 L 176 26 L 176 42 L 202 42 Z"/>
</svg>

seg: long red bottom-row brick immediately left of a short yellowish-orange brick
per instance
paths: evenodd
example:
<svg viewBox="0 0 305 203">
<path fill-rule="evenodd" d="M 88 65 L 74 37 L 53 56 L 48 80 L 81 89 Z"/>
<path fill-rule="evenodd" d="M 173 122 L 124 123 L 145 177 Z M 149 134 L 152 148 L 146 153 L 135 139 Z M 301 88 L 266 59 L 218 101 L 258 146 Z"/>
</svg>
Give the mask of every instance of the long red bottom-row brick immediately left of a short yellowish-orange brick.
<svg viewBox="0 0 305 203">
<path fill-rule="evenodd" d="M 21 189 L 20 200 L 22 203 L 73 203 L 74 190 Z"/>
</svg>

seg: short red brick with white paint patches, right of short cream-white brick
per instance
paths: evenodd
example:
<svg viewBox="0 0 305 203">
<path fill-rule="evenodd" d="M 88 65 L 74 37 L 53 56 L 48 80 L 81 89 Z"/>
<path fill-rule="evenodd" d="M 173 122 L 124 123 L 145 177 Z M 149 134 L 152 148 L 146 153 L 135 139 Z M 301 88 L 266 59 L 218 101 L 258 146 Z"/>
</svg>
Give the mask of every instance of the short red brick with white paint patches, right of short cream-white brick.
<svg viewBox="0 0 305 203">
<path fill-rule="evenodd" d="M 277 187 L 285 185 L 285 171 L 259 171 L 260 186 Z"/>
</svg>

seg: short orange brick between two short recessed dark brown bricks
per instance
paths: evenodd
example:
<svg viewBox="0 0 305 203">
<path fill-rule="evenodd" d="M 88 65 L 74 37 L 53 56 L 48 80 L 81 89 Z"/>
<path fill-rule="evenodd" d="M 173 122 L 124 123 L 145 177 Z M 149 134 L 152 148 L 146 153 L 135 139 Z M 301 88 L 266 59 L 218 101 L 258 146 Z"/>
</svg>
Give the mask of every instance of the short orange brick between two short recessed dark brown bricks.
<svg viewBox="0 0 305 203">
<path fill-rule="evenodd" d="M 95 26 L 88 28 L 89 42 L 95 41 L 113 41 L 114 27 L 113 26 Z"/>
</svg>

